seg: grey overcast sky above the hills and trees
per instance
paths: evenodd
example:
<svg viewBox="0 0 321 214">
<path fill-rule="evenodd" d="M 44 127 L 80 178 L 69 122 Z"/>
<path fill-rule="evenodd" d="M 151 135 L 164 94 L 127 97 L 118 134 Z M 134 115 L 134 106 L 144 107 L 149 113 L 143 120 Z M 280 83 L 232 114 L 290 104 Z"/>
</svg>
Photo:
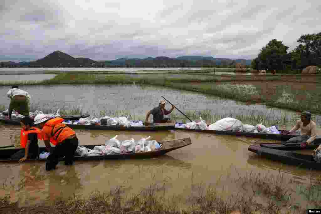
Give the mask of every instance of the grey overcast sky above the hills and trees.
<svg viewBox="0 0 321 214">
<path fill-rule="evenodd" d="M 293 49 L 321 31 L 313 1 L 1 0 L 0 61 L 184 55 L 253 59 L 271 39 Z"/>
</svg>

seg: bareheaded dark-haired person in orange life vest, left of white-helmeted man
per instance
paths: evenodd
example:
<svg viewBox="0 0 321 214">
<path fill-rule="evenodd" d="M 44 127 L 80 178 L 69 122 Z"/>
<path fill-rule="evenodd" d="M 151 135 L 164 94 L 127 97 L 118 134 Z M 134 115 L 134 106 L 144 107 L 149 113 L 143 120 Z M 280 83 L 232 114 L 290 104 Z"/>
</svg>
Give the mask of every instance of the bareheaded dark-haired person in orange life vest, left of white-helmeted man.
<svg viewBox="0 0 321 214">
<path fill-rule="evenodd" d="M 30 117 L 23 117 L 20 121 L 20 125 L 22 127 L 20 134 L 20 145 L 23 149 L 11 156 L 12 159 L 19 159 L 19 163 L 22 163 L 28 158 L 38 158 L 38 138 L 39 140 L 41 139 L 41 131 L 36 127 L 32 127 L 32 124 L 33 121 Z"/>
</svg>

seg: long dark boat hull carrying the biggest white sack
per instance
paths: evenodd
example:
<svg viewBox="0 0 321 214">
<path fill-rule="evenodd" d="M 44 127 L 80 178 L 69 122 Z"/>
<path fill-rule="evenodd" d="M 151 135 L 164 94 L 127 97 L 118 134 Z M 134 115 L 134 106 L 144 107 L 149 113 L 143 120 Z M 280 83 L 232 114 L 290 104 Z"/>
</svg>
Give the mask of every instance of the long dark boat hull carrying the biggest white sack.
<svg viewBox="0 0 321 214">
<path fill-rule="evenodd" d="M 292 137 L 299 136 L 298 134 L 291 133 L 287 135 L 281 134 L 267 134 L 267 133 L 249 133 L 249 132 L 232 132 L 232 131 L 214 131 L 214 130 L 200 130 L 200 129 L 185 129 L 175 127 L 175 130 L 191 131 L 191 132 L 202 132 L 202 133 L 212 133 L 212 134 L 224 134 L 224 135 L 235 135 L 235 136 L 245 136 L 245 137 L 254 137 L 254 138 L 263 138 L 263 139 L 272 139 L 279 141 L 287 141 Z M 279 130 L 281 133 L 285 130 Z"/>
</svg>

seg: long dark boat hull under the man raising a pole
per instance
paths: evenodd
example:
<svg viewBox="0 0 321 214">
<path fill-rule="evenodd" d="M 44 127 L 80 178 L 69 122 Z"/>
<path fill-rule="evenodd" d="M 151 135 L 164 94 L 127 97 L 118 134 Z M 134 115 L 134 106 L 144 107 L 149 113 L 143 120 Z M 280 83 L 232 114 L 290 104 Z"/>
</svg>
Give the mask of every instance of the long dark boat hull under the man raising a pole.
<svg viewBox="0 0 321 214">
<path fill-rule="evenodd" d="M 72 121 L 72 120 L 71 120 Z M 0 122 L 10 125 L 20 125 L 19 119 L 6 120 L 0 118 Z M 161 131 L 174 129 L 175 123 L 150 123 L 143 126 L 122 126 L 122 125 L 76 125 L 66 124 L 72 129 L 86 129 L 86 130 L 115 130 L 115 131 Z"/>
</svg>

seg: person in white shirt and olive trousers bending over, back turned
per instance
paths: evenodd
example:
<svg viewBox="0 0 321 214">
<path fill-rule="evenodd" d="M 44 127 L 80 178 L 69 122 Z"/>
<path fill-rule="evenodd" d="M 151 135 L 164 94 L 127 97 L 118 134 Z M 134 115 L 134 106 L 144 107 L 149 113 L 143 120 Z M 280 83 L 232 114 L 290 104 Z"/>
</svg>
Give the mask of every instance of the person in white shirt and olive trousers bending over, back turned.
<svg viewBox="0 0 321 214">
<path fill-rule="evenodd" d="M 19 89 L 17 85 L 14 85 L 7 92 L 7 96 L 11 99 L 8 109 L 9 120 L 11 119 L 13 109 L 19 114 L 29 117 L 30 95 L 28 94 L 28 92 L 23 91 Z"/>
</svg>

